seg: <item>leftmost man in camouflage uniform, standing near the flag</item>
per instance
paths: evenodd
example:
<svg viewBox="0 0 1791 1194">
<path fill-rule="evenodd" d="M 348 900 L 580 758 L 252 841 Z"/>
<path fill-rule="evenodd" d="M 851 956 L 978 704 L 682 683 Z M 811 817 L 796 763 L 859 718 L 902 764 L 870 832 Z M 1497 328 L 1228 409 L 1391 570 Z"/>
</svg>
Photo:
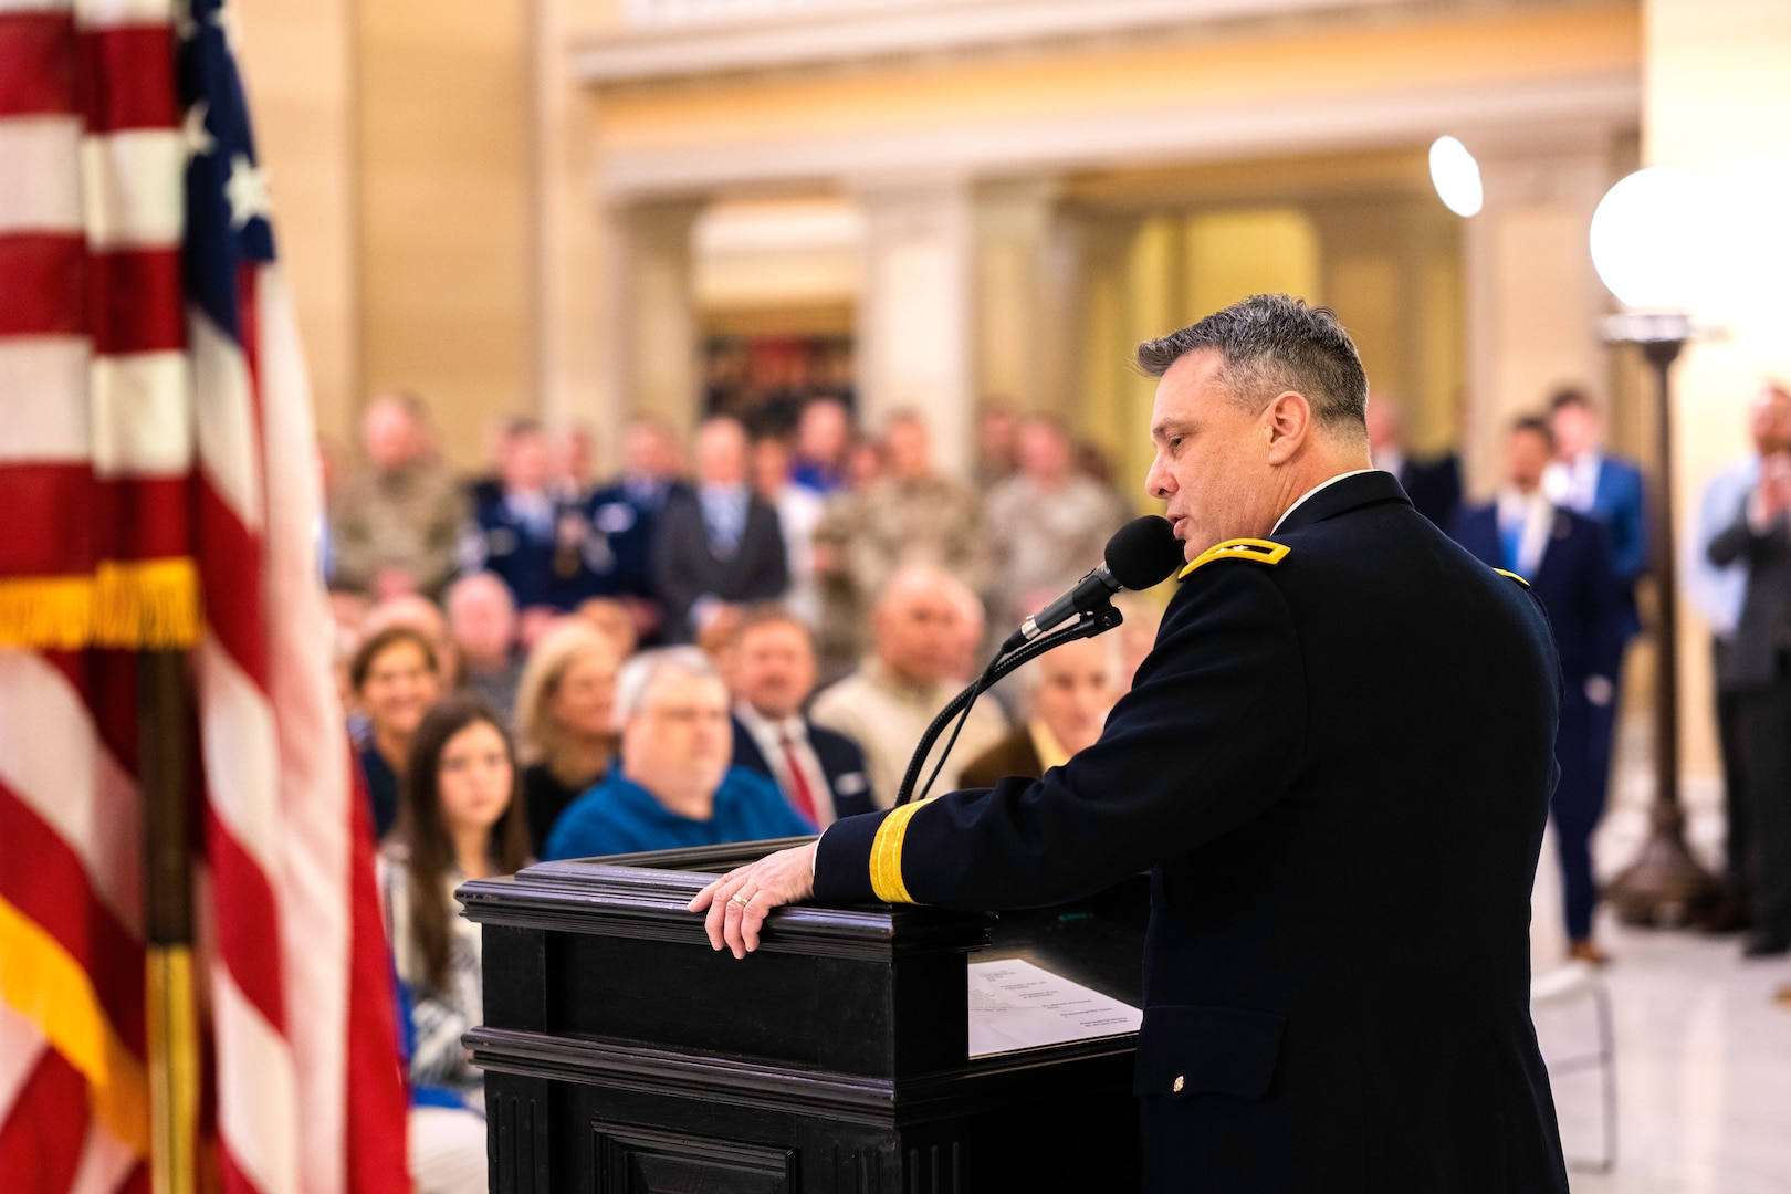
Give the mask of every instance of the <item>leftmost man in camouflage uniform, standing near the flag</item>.
<svg viewBox="0 0 1791 1194">
<path fill-rule="evenodd" d="M 466 498 L 432 449 L 423 405 L 408 394 L 374 401 L 362 448 L 367 462 L 330 505 L 331 582 L 374 598 L 439 596 L 455 575 Z"/>
</svg>

